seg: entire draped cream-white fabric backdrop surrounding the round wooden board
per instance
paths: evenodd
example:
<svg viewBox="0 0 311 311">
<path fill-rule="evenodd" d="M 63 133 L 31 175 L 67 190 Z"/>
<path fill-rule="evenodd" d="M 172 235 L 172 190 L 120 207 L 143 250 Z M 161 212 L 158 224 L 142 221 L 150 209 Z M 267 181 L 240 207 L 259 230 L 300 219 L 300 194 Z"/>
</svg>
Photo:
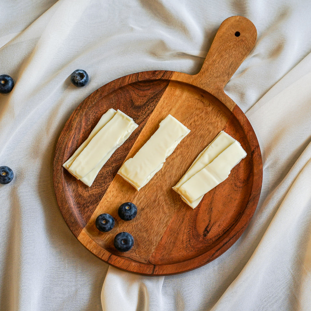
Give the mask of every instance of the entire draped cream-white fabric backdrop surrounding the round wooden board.
<svg viewBox="0 0 311 311">
<path fill-rule="evenodd" d="M 15 173 L 0 185 L 0 309 L 310 310 L 309 12 L 309 0 L 2 1 L 0 74 L 16 85 L 0 94 L 0 165 Z M 233 247 L 194 271 L 145 277 L 108 269 L 58 209 L 58 136 L 77 105 L 111 80 L 155 69 L 198 72 L 232 15 L 258 31 L 225 87 L 262 150 L 255 215 Z M 88 72 L 86 87 L 71 85 L 75 69 Z"/>
</svg>

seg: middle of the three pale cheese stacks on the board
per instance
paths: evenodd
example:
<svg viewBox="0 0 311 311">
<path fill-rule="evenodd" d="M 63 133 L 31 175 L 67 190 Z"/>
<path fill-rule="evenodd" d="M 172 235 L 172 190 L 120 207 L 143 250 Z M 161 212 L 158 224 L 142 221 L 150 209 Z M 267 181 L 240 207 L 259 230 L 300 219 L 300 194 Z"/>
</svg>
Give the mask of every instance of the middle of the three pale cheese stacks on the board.
<svg viewBox="0 0 311 311">
<path fill-rule="evenodd" d="M 123 163 L 118 174 L 139 191 L 162 168 L 165 159 L 189 132 L 169 114 L 135 156 Z"/>
</svg>

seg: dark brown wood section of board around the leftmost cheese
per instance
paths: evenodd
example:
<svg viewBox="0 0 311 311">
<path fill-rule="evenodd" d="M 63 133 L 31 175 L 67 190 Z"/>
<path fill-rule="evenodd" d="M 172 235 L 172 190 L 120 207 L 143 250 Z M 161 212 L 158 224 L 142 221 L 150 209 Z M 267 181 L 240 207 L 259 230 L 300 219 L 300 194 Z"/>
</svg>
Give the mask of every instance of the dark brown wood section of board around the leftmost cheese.
<svg viewBox="0 0 311 311">
<path fill-rule="evenodd" d="M 93 214 L 98 202 L 117 173 L 128 149 L 134 144 L 156 103 L 169 84 L 171 72 L 155 71 L 152 81 L 140 82 L 143 73 L 132 74 L 112 81 L 88 96 L 71 115 L 58 139 L 53 178 L 58 206 L 73 234 L 78 236 Z M 142 75 L 143 76 L 143 75 Z M 163 80 L 161 79 L 163 78 Z M 117 85 L 117 88 L 116 88 Z M 139 127 L 117 149 L 95 179 L 92 187 L 77 181 L 63 169 L 63 163 L 86 140 L 101 116 L 109 109 L 120 109 L 133 117 Z"/>
</svg>

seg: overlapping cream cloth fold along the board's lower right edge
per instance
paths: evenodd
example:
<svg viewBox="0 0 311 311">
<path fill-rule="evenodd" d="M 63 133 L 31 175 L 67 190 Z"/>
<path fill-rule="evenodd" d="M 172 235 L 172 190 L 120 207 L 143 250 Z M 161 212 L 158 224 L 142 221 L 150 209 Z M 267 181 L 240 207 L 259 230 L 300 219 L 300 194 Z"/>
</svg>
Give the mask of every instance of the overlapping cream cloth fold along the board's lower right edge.
<svg viewBox="0 0 311 311">
<path fill-rule="evenodd" d="M 264 174 L 257 210 L 238 242 L 178 276 L 153 280 L 109 267 L 103 310 L 311 310 L 310 85 L 311 54 L 246 114 Z"/>
</svg>

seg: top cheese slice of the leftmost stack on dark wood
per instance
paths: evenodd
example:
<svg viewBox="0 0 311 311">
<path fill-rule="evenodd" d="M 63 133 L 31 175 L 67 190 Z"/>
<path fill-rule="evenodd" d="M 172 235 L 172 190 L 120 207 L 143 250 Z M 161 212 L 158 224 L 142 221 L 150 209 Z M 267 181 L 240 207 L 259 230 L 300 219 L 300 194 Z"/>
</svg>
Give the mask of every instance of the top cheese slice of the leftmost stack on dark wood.
<svg viewBox="0 0 311 311">
<path fill-rule="evenodd" d="M 68 171 L 83 179 L 93 169 L 98 170 L 99 166 L 107 162 L 137 127 L 132 118 L 118 110 L 81 151 Z M 90 181 L 91 178 L 88 180 Z"/>
</svg>

